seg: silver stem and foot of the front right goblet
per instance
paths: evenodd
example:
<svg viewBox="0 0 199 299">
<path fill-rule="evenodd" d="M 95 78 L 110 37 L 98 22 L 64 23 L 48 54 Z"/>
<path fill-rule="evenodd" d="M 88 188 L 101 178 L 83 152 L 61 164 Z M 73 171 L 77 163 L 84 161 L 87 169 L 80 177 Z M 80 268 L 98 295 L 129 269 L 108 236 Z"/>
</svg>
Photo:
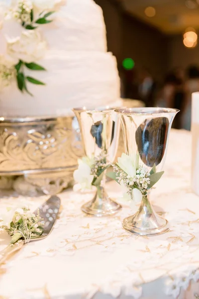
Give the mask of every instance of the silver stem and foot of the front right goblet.
<svg viewBox="0 0 199 299">
<path fill-rule="evenodd" d="M 142 236 L 160 235 L 169 230 L 168 222 L 153 209 L 148 195 L 143 195 L 139 210 L 123 220 L 123 228 Z"/>
</svg>

